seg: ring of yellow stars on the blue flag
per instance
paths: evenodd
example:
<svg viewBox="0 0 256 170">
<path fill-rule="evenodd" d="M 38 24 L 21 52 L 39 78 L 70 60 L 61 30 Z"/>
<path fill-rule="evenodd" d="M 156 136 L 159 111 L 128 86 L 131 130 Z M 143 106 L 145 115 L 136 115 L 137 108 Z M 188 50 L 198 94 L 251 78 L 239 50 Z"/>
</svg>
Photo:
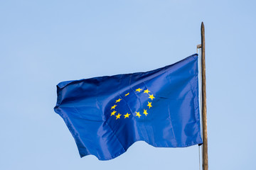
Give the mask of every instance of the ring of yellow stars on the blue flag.
<svg viewBox="0 0 256 170">
<path fill-rule="evenodd" d="M 149 89 L 146 89 L 146 90 L 143 91 L 142 89 L 139 88 L 139 89 L 136 89 L 136 90 L 135 90 L 135 92 L 138 92 L 138 93 L 140 93 L 141 91 L 142 91 L 144 94 L 148 94 L 148 95 L 149 95 L 149 98 L 151 99 L 151 101 L 153 101 L 153 99 L 155 98 L 153 94 L 149 94 L 149 92 L 150 92 Z M 128 96 L 128 95 L 129 95 L 129 93 L 124 94 L 124 97 L 125 97 L 125 96 Z M 121 117 L 121 115 L 122 115 L 122 114 L 120 114 L 120 113 L 117 113 L 117 111 L 114 111 L 114 109 L 117 107 L 117 103 L 119 103 L 120 101 L 122 101 L 122 98 L 117 99 L 116 102 L 115 102 L 115 104 L 114 104 L 114 106 L 112 106 L 111 109 L 110 109 L 110 110 L 113 110 L 110 116 L 114 115 L 114 116 L 116 117 L 116 120 L 117 120 L 117 119 L 120 119 L 120 117 Z M 148 104 L 147 104 L 146 106 L 148 106 L 149 109 L 152 108 L 152 102 L 149 102 L 149 101 L 148 101 Z M 146 109 L 143 109 L 143 110 L 144 110 L 144 112 L 143 112 L 142 114 L 144 114 L 145 116 L 149 114 L 149 113 L 147 113 L 147 110 L 146 110 Z M 115 113 L 117 113 L 117 115 L 116 115 Z M 138 112 L 135 112 L 135 113 L 136 113 L 135 116 L 136 116 L 137 118 L 140 118 L 140 117 L 142 116 L 141 113 L 139 113 L 139 111 L 138 111 Z M 126 114 L 123 115 L 123 116 L 124 116 L 124 118 L 129 118 L 129 115 L 131 115 L 131 114 L 126 113 Z"/>
</svg>

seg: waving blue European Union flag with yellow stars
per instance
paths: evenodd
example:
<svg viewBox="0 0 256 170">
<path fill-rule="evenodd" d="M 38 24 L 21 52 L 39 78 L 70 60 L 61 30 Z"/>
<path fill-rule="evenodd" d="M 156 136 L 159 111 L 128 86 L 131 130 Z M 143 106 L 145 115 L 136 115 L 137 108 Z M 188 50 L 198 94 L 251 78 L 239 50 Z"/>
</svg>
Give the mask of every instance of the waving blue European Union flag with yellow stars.
<svg viewBox="0 0 256 170">
<path fill-rule="evenodd" d="M 154 147 L 202 143 L 198 55 L 150 72 L 57 85 L 54 108 L 75 138 L 81 157 L 118 157 L 139 140 Z"/>
</svg>

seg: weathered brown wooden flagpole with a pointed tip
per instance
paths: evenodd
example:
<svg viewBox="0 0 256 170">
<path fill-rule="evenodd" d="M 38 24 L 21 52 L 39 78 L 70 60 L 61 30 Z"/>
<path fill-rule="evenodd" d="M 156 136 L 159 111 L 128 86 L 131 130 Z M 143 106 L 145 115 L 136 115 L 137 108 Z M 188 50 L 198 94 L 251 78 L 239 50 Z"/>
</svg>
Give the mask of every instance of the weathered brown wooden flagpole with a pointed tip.
<svg viewBox="0 0 256 170">
<path fill-rule="evenodd" d="M 201 71 L 202 71 L 202 117 L 203 117 L 203 170 L 208 170 L 208 137 L 206 120 L 206 42 L 205 29 L 203 22 L 201 24 Z"/>
</svg>

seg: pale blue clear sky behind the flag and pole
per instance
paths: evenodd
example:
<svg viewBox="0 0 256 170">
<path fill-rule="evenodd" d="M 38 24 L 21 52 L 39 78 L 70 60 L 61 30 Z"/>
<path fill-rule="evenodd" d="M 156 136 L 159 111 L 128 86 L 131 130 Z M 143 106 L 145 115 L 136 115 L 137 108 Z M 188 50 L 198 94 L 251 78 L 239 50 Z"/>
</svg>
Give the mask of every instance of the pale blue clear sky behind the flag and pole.
<svg viewBox="0 0 256 170">
<path fill-rule="evenodd" d="M 0 1 L 0 169 L 199 169 L 198 146 L 136 142 L 80 158 L 53 111 L 60 81 L 146 72 L 206 28 L 209 169 L 255 169 L 256 1 Z"/>
</svg>

